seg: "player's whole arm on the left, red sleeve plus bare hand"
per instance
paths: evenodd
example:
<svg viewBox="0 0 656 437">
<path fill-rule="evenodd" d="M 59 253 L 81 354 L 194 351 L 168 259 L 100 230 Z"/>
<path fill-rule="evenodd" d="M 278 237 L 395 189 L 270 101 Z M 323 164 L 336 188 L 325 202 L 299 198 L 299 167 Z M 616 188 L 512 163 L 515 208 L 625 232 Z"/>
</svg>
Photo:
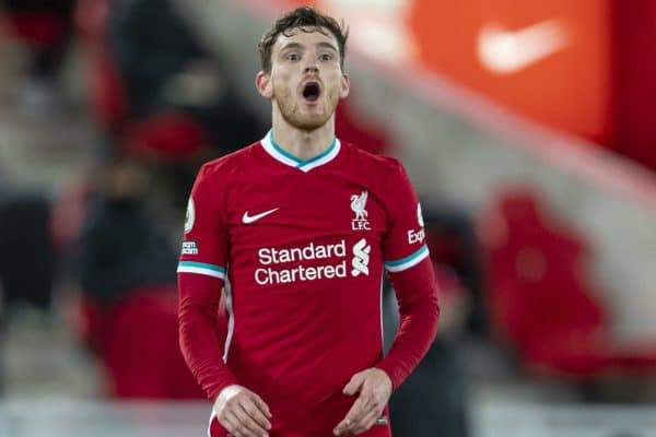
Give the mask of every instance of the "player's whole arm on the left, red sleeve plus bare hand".
<svg viewBox="0 0 656 437">
<path fill-rule="evenodd" d="M 189 369 L 214 402 L 219 423 L 231 434 L 266 436 L 271 413 L 253 391 L 238 385 L 222 359 L 224 335 L 218 309 L 227 265 L 225 187 L 215 167 L 203 166 L 187 206 L 178 264 L 180 350 Z"/>
</svg>

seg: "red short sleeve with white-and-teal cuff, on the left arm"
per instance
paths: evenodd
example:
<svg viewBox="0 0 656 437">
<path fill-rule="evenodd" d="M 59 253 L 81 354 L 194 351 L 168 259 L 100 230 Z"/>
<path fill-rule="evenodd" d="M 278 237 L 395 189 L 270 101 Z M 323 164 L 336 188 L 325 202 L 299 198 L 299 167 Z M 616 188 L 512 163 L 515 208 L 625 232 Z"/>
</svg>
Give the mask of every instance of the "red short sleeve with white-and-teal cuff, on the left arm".
<svg viewBox="0 0 656 437">
<path fill-rule="evenodd" d="M 220 178 L 207 167 L 198 174 L 187 203 L 178 273 L 225 279 L 227 231 L 222 201 L 224 188 Z"/>
</svg>

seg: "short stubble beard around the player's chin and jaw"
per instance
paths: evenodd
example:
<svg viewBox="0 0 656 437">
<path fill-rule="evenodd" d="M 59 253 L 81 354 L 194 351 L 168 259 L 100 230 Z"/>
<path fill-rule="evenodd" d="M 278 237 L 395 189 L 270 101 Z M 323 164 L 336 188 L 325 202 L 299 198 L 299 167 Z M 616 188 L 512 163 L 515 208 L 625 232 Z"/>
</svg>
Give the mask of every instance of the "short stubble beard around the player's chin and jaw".
<svg viewBox="0 0 656 437">
<path fill-rule="evenodd" d="M 282 118 L 291 126 L 298 130 L 314 131 L 319 129 L 330 120 L 339 102 L 337 90 L 331 90 L 328 94 L 325 109 L 321 113 L 301 114 L 300 102 L 295 94 L 288 87 L 273 86 L 276 95 L 276 104 L 282 115 Z M 324 96 L 321 96 L 324 98 Z"/>
</svg>

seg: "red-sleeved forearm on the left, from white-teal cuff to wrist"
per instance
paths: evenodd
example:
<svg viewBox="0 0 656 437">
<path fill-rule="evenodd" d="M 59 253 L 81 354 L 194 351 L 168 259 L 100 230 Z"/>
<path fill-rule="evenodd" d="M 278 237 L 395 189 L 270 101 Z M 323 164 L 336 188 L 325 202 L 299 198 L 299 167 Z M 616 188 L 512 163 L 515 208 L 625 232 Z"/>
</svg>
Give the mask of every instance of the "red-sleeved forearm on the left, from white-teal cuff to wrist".
<svg viewBox="0 0 656 437">
<path fill-rule="evenodd" d="M 223 281 L 192 273 L 178 275 L 180 350 L 189 369 L 213 401 L 236 378 L 222 361 L 225 339 L 216 332 L 216 310 Z"/>
</svg>

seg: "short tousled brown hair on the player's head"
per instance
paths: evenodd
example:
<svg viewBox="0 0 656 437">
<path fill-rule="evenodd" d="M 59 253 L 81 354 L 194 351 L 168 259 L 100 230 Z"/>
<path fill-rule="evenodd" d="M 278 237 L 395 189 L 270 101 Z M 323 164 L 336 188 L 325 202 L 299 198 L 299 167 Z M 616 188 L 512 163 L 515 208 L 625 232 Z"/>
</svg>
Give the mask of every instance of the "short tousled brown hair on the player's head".
<svg viewBox="0 0 656 437">
<path fill-rule="evenodd" d="M 331 33 L 337 39 L 339 48 L 339 63 L 344 68 L 344 55 L 349 28 L 337 22 L 332 16 L 324 15 L 311 7 L 300 7 L 280 17 L 273 27 L 262 36 L 257 48 L 260 55 L 262 71 L 271 72 L 271 51 L 280 34 L 290 36 L 292 31 Z"/>
</svg>

